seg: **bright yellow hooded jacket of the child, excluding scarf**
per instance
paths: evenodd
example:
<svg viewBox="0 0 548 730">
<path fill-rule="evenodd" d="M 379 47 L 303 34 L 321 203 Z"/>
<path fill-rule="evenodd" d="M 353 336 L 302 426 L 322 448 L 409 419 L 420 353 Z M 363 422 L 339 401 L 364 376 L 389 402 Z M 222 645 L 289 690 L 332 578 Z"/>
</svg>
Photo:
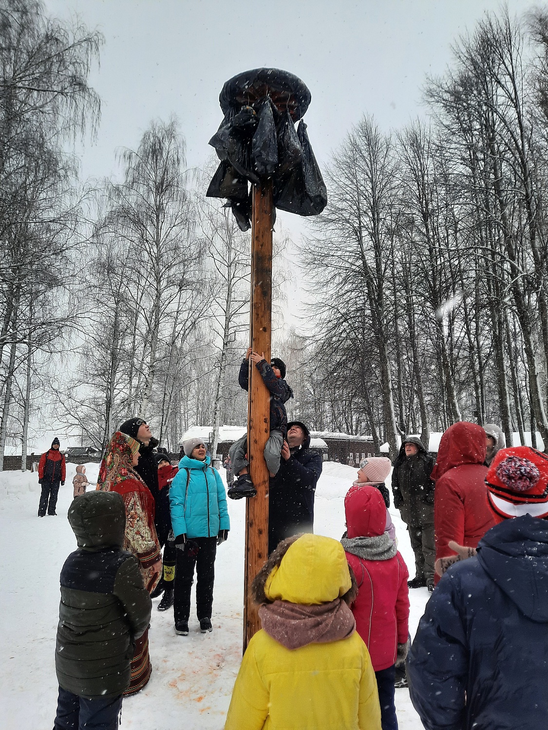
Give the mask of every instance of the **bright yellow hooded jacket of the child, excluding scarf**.
<svg viewBox="0 0 548 730">
<path fill-rule="evenodd" d="M 351 586 L 340 542 L 303 535 L 265 584 L 270 600 L 321 604 Z M 286 649 L 261 629 L 238 672 L 225 730 L 381 730 L 369 652 L 356 631 Z"/>
</svg>

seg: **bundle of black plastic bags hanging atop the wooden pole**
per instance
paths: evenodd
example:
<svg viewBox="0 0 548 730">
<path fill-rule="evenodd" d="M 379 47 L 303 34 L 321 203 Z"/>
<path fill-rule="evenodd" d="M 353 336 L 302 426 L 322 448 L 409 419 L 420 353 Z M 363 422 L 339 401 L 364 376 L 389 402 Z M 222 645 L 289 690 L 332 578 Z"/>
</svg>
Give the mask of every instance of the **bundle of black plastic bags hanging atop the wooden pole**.
<svg viewBox="0 0 548 730">
<path fill-rule="evenodd" d="M 228 200 L 242 231 L 251 226 L 249 183 L 272 178 L 274 206 L 297 215 L 318 215 L 327 205 L 306 125 L 301 119 L 294 126 L 310 99 L 302 81 L 277 69 L 255 69 L 224 85 L 224 120 L 210 139 L 221 164 L 207 195 Z"/>
</svg>

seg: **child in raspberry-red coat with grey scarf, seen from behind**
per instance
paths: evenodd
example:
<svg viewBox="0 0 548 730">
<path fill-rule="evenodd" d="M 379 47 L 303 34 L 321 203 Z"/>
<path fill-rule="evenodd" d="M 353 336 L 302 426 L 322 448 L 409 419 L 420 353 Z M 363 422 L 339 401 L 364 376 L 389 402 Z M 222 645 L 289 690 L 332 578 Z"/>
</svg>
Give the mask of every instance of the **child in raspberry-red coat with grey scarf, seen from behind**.
<svg viewBox="0 0 548 730">
<path fill-rule="evenodd" d="M 352 487 L 344 509 L 346 534 L 340 542 L 358 584 L 351 610 L 375 670 L 382 730 L 397 730 L 394 678 L 408 650 L 409 572 L 385 532 L 387 508 L 378 489 Z"/>
</svg>

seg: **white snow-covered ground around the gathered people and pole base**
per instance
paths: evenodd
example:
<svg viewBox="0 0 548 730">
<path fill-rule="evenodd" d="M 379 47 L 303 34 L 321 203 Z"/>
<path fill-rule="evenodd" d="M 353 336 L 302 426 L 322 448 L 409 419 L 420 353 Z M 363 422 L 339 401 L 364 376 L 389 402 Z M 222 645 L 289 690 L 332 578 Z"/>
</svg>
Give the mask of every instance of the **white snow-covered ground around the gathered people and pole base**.
<svg viewBox="0 0 548 730">
<path fill-rule="evenodd" d="M 90 482 L 99 466 L 87 465 Z M 224 476 L 224 470 L 221 471 Z M 0 550 L 4 587 L 0 592 L 0 705 L 4 730 L 49 730 L 56 712 L 54 665 L 58 622 L 59 573 L 76 541 L 66 512 L 72 502 L 75 465 L 67 464 L 57 517 L 38 518 L 37 474 L 0 474 Z M 356 469 L 326 462 L 316 491 L 316 533 L 340 538 L 344 531 L 343 497 Z M 388 481 L 388 480 L 387 480 Z M 123 730 L 221 730 L 232 685 L 241 661 L 243 544 L 245 504 L 229 500 L 232 530 L 218 548 L 213 632 L 200 634 L 191 617 L 188 637 L 173 628 L 173 612 L 153 602 L 149 639 L 153 673 L 137 696 L 124 700 Z M 399 549 L 414 575 L 414 560 L 399 512 L 391 510 Z M 426 588 L 411 591 L 411 636 L 428 599 Z M 400 729 L 422 724 L 406 689 L 396 690 Z"/>
</svg>

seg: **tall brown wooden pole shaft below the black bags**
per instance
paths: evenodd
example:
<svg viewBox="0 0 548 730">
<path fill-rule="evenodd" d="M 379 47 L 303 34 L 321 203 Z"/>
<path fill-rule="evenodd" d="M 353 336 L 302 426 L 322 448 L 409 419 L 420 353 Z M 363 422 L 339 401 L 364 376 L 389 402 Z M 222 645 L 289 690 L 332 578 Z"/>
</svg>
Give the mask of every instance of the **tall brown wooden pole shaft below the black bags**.
<svg viewBox="0 0 548 730">
<path fill-rule="evenodd" d="M 270 362 L 272 326 L 272 180 L 253 188 L 251 218 L 250 344 Z M 257 494 L 247 499 L 246 569 L 243 588 L 243 650 L 261 628 L 251 583 L 268 557 L 268 469 L 263 452 L 270 434 L 270 393 L 250 361 L 248 393 L 249 474 Z"/>
</svg>

